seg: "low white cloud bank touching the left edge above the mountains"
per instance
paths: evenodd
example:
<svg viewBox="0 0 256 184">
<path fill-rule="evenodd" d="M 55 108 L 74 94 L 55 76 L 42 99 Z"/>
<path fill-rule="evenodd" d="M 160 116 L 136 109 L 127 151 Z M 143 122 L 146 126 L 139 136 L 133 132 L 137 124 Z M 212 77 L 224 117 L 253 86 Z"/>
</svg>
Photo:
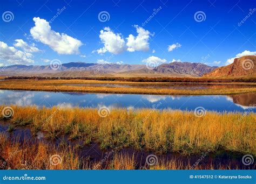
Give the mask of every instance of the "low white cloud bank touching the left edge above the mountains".
<svg viewBox="0 0 256 184">
<path fill-rule="evenodd" d="M 32 56 L 31 53 L 19 51 L 0 41 L 0 60 L 8 61 L 11 64 L 27 64 L 35 62 L 31 59 Z"/>
</svg>

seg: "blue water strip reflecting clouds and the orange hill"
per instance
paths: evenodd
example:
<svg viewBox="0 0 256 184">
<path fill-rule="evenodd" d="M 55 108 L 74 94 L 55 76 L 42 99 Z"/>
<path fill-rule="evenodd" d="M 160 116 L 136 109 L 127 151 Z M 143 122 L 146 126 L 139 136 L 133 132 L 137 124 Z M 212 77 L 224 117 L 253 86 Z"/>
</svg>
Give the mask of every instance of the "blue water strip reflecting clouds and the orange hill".
<svg viewBox="0 0 256 184">
<path fill-rule="evenodd" d="M 131 94 L 54 93 L 46 91 L 0 90 L 0 104 L 52 107 L 65 102 L 67 107 L 154 108 L 194 110 L 204 107 L 213 111 L 256 112 L 256 93 L 241 95 L 170 96 Z M 250 108 L 254 104 L 254 108 Z"/>
</svg>

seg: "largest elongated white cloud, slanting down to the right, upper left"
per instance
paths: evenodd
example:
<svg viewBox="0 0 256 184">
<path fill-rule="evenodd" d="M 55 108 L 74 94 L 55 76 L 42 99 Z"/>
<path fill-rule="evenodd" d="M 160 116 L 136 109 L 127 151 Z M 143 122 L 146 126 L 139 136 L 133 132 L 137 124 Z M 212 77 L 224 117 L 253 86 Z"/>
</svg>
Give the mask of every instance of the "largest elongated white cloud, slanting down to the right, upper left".
<svg viewBox="0 0 256 184">
<path fill-rule="evenodd" d="M 45 19 L 34 17 L 33 21 L 35 26 L 30 29 L 33 39 L 48 45 L 58 54 L 79 54 L 79 47 L 83 45 L 80 40 L 51 30 Z"/>
</svg>

